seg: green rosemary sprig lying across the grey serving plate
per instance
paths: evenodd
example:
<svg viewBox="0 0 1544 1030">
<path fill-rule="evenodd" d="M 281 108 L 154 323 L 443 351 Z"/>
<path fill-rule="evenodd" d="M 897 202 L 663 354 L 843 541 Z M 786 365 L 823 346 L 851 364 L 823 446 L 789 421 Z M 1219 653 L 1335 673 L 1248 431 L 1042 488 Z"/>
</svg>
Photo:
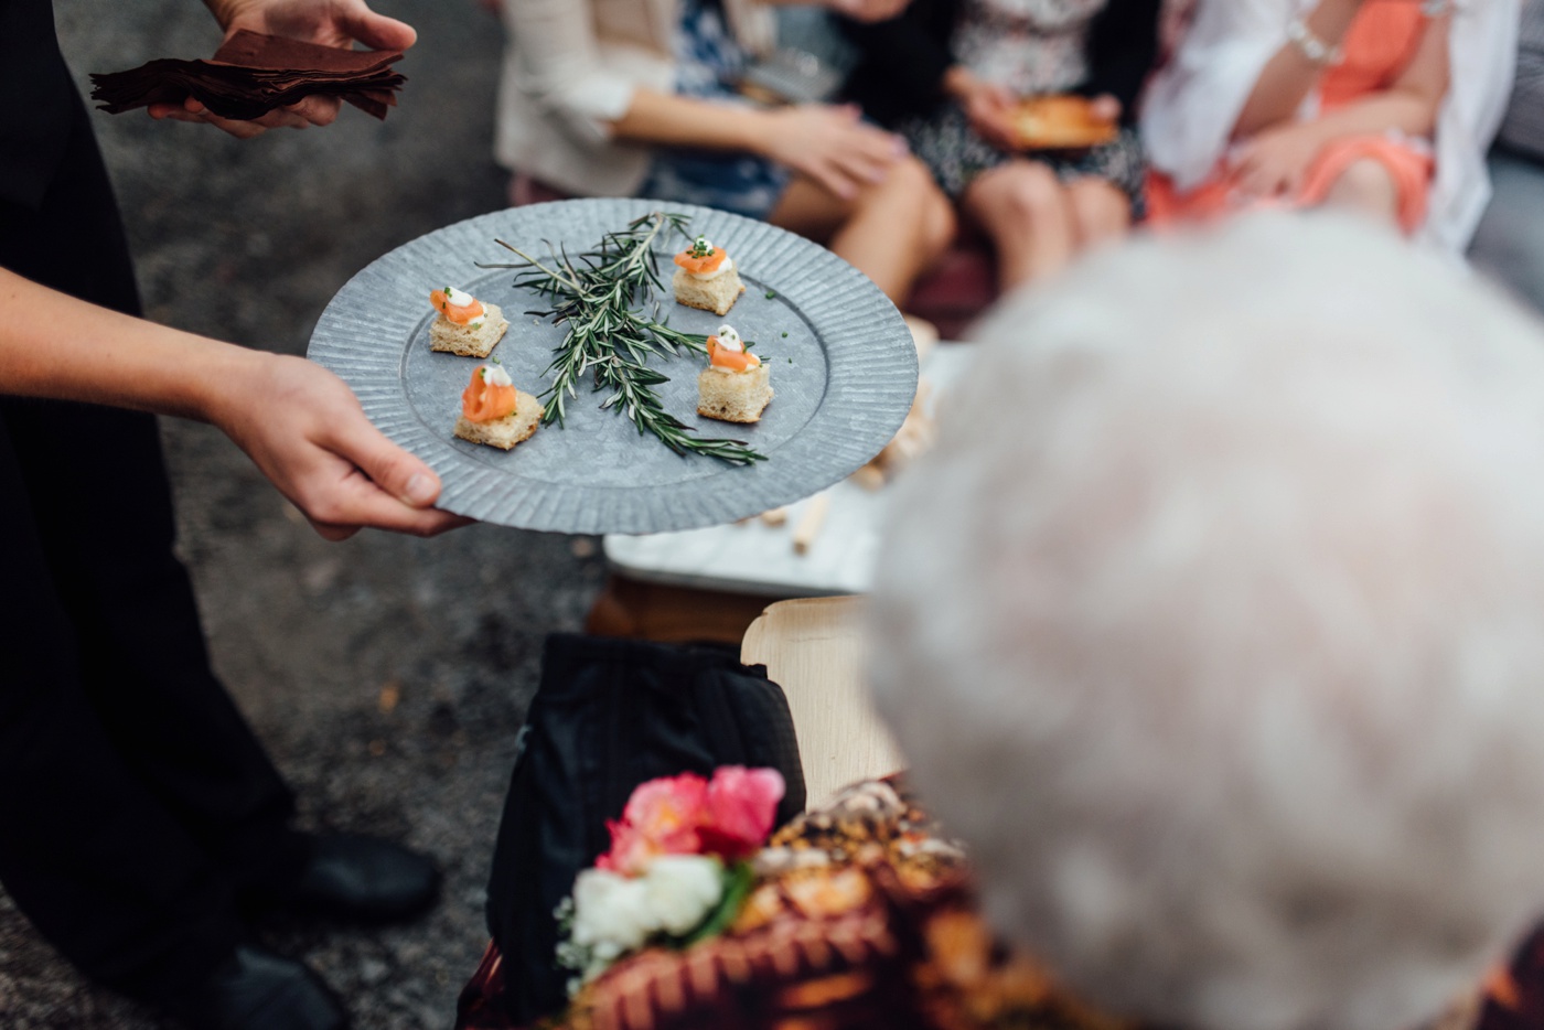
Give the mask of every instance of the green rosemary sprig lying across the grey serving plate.
<svg viewBox="0 0 1544 1030">
<path fill-rule="evenodd" d="M 564 341 L 543 375 L 553 381 L 542 392 L 547 406 L 542 422 L 564 423 L 565 405 L 577 397 L 585 374 L 594 377 L 594 391 L 610 389 L 601 408 L 624 412 L 639 435 L 652 432 L 676 454 L 706 454 L 735 465 L 766 460 L 741 440 L 699 437 L 696 431 L 665 411 L 655 386 L 670 378 L 648 368 L 659 354 L 678 355 L 682 349 L 707 354 L 707 337 L 679 332 L 659 317 L 650 303 L 653 290 L 664 289 L 655 241 L 662 233 L 686 235 L 686 215 L 653 212 L 635 219 L 625 230 L 607 233 L 599 247 L 570 258 L 565 250 L 548 263 L 537 261 L 502 239 L 500 247 L 516 253 L 520 264 L 480 264 L 482 269 L 520 269 L 514 286 L 533 289 L 548 298 L 550 310 L 527 312 L 551 317 L 567 324 Z M 641 310 L 650 304 L 648 310 Z"/>
</svg>

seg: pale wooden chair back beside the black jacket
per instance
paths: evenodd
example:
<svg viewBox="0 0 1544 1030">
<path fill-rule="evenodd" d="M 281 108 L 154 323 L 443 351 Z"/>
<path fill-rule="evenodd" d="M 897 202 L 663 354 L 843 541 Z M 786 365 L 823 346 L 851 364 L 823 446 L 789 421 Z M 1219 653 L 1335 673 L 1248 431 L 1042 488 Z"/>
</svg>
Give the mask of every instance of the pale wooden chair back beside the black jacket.
<svg viewBox="0 0 1544 1030">
<path fill-rule="evenodd" d="M 862 598 L 778 601 L 750 624 L 740 647 L 740 661 L 766 666 L 787 695 L 811 808 L 855 780 L 906 764 L 863 681 L 863 604 Z"/>
</svg>

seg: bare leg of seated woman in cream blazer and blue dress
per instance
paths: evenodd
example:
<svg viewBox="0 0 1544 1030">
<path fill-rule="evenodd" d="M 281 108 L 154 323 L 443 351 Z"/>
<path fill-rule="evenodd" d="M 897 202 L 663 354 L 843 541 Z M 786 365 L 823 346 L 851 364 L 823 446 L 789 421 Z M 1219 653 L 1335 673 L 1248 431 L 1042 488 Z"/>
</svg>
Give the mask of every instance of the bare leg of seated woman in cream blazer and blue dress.
<svg viewBox="0 0 1544 1030">
<path fill-rule="evenodd" d="M 767 221 L 828 242 L 897 304 L 954 238 L 950 201 L 914 158 L 897 161 L 851 201 L 794 179 Z"/>
</svg>

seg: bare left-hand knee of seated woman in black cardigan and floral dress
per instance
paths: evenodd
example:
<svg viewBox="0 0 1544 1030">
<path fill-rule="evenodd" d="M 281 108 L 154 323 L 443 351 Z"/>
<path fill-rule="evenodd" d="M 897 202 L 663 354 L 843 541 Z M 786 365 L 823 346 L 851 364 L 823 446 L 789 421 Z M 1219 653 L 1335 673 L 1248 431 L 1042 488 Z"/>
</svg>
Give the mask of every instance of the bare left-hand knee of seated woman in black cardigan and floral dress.
<svg viewBox="0 0 1544 1030">
<path fill-rule="evenodd" d="M 1059 270 L 1078 247 L 1067 190 L 1042 164 L 1013 161 L 984 171 L 965 188 L 963 205 L 997 249 L 1004 292 Z"/>
</svg>

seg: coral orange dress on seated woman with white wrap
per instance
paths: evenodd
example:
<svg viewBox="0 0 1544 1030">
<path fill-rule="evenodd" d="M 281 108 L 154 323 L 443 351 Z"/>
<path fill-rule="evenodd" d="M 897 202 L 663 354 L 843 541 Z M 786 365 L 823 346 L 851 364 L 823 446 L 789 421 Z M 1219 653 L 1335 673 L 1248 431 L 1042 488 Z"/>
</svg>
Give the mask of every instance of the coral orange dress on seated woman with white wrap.
<svg viewBox="0 0 1544 1030">
<path fill-rule="evenodd" d="M 1342 43 L 1345 59 L 1320 79 L 1320 110 L 1334 111 L 1390 88 L 1414 59 L 1425 29 L 1427 17 L 1417 0 L 1368 0 Z M 1376 161 L 1390 173 L 1399 196 L 1399 224 L 1407 233 L 1416 232 L 1427 218 L 1434 167 L 1428 148 L 1396 136 L 1348 136 L 1326 144 L 1314 156 L 1302 187 L 1285 202 L 1289 207 L 1323 204 L 1340 174 L 1362 159 Z M 1226 164 L 1218 164 L 1212 178 L 1189 193 L 1175 190 L 1160 171 L 1147 182 L 1147 216 L 1160 225 L 1280 204 L 1280 198 L 1241 196 Z"/>
</svg>

